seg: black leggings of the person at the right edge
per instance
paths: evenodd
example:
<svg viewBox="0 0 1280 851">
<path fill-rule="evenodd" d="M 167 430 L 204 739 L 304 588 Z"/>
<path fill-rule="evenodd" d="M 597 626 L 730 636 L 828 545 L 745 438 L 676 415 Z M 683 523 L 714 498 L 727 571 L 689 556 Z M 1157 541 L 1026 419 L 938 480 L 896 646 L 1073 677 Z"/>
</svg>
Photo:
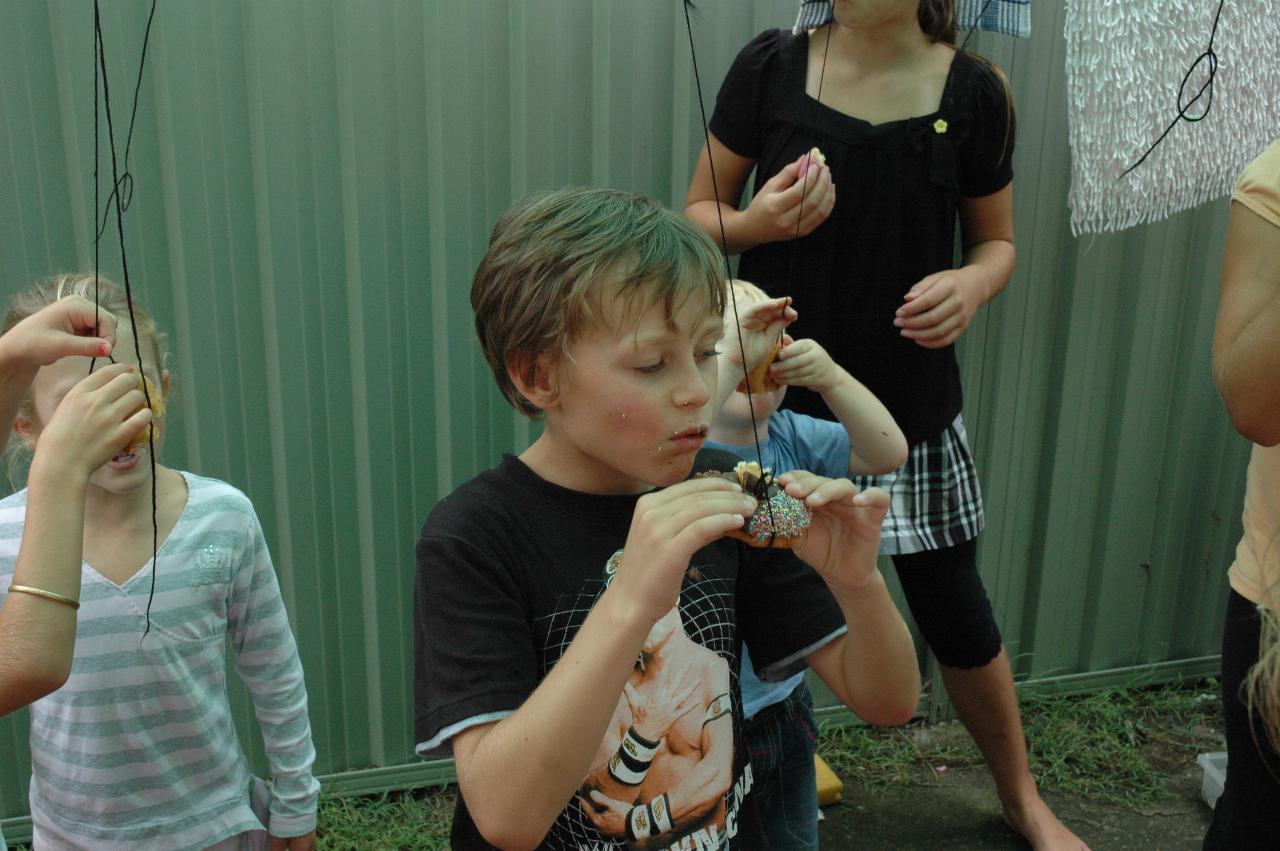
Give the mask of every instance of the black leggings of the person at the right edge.
<svg viewBox="0 0 1280 851">
<path fill-rule="evenodd" d="M 1280 848 L 1280 754 L 1262 722 L 1249 717 L 1244 678 L 1258 660 L 1258 610 L 1231 591 L 1222 630 L 1222 720 L 1226 727 L 1226 786 L 1204 836 L 1211 851 Z"/>
</svg>

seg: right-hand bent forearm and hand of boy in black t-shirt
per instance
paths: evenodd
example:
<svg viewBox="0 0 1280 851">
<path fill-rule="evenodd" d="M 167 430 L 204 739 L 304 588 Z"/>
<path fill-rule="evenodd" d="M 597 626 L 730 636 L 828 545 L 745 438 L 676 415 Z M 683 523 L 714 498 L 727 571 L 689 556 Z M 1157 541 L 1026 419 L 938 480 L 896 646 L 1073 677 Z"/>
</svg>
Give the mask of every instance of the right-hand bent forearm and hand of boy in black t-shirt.
<svg viewBox="0 0 1280 851">
<path fill-rule="evenodd" d="M 876 567 L 888 494 L 878 488 L 858 493 L 847 479 L 803 471 L 780 482 L 814 511 L 795 554 L 822 576 L 849 627 L 809 654 L 809 667 L 863 720 L 906 723 L 920 699 L 920 669 L 911 633 Z"/>
</svg>

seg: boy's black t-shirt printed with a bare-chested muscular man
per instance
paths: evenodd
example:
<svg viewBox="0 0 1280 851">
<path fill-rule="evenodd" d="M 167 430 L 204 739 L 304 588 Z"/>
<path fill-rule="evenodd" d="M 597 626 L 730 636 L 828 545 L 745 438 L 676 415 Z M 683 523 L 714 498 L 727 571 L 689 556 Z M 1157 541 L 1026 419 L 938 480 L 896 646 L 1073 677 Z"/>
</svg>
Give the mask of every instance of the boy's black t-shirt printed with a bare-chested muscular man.
<svg viewBox="0 0 1280 851">
<path fill-rule="evenodd" d="M 704 450 L 695 471 L 727 470 L 736 461 Z M 435 507 L 417 545 L 413 600 L 419 755 L 448 755 L 454 733 L 520 708 L 607 587 L 637 499 L 568 490 L 507 456 Z M 590 774 L 539 847 L 765 847 L 741 737 L 742 641 L 751 645 L 762 677 L 778 680 L 842 632 L 844 617 L 818 575 L 790 550 L 753 549 L 732 539 L 695 553 L 677 612 L 678 621 L 672 613 L 659 622 L 677 626 L 637 660 L 632 688 L 618 697 Z M 685 672 L 682 688 L 663 681 L 663 672 L 676 671 Z M 643 782 L 618 783 L 626 770 L 611 774 L 611 756 L 628 731 L 643 726 L 637 718 L 663 717 L 658 696 L 672 692 L 682 692 L 682 712 L 667 706 L 666 714 L 678 718 L 664 733 L 640 737 L 657 747 L 648 751 Z M 653 706 L 644 703 L 650 697 Z M 630 839 L 620 825 L 631 807 L 646 804 L 669 806 L 676 818 L 663 820 L 659 813 L 660 834 Z M 632 824 L 636 815 L 654 810 L 632 813 Z M 639 823 L 644 828 L 646 819 Z M 490 847 L 461 797 L 452 845 Z"/>
</svg>

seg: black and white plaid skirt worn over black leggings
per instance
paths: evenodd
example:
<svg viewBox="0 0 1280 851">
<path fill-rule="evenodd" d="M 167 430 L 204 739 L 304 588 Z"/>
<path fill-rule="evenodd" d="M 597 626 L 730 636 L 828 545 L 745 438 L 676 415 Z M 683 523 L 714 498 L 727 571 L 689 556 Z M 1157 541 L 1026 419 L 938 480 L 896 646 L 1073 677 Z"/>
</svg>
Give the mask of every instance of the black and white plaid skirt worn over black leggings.
<svg viewBox="0 0 1280 851">
<path fill-rule="evenodd" d="M 959 416 L 941 434 L 913 445 L 906 462 L 893 472 L 855 476 L 854 484 L 888 491 L 882 555 L 943 549 L 982 531 L 978 470 Z"/>
</svg>

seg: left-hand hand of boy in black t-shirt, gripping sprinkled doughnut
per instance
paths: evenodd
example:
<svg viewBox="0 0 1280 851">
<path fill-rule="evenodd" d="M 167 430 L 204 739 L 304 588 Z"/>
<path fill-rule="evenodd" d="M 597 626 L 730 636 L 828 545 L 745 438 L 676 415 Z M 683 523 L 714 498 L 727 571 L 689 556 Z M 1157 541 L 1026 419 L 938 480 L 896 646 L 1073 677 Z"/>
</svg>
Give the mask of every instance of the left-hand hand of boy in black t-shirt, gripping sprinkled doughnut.
<svg viewBox="0 0 1280 851">
<path fill-rule="evenodd" d="M 726 479 L 691 479 L 645 494 L 609 593 L 622 594 L 639 617 L 657 623 L 676 604 L 694 553 L 740 529 L 754 511 L 755 500 Z"/>
</svg>

